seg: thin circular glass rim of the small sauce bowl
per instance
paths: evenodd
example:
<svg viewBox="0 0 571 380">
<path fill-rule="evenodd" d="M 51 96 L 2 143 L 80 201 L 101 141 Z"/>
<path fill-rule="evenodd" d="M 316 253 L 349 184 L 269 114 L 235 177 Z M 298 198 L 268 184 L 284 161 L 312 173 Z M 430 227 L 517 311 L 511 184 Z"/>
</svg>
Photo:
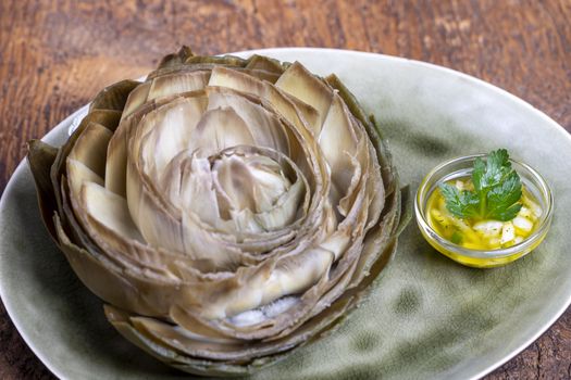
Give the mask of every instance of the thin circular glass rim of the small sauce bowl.
<svg viewBox="0 0 571 380">
<path fill-rule="evenodd" d="M 462 155 L 457 156 L 450 160 L 447 160 L 438 165 L 436 165 L 432 170 L 426 174 L 426 176 L 422 179 L 418 190 L 417 194 L 414 197 L 414 216 L 417 219 L 417 223 L 419 224 L 420 228 L 424 230 L 425 233 L 424 237 L 426 239 L 430 239 L 433 241 L 433 243 L 442 246 L 444 250 L 447 250 L 451 253 L 461 255 L 461 256 L 468 256 L 473 258 L 499 258 L 499 257 L 509 257 L 512 255 L 516 255 L 518 253 L 521 253 L 530 248 L 533 248 L 534 244 L 543 239 L 545 235 L 547 233 L 547 230 L 549 229 L 551 217 L 553 217 L 553 210 L 554 210 L 554 195 L 551 192 L 551 189 L 545 178 L 533 167 L 530 165 L 518 161 L 513 159 L 509 159 L 511 163 L 514 163 L 519 166 L 521 166 L 526 174 L 530 175 L 532 178 L 532 182 L 537 187 L 537 189 L 541 192 L 542 199 L 545 203 L 545 211 L 542 214 L 542 219 L 539 226 L 533 231 L 531 236 L 529 236 L 525 240 L 522 242 L 511 245 L 509 248 L 504 249 L 497 249 L 497 250 L 473 250 L 468 249 L 458 244 L 452 243 L 449 240 L 446 240 L 445 238 L 440 237 L 429 224 L 429 221 L 425 218 L 424 210 L 421 210 L 421 207 L 424 207 L 424 201 L 426 200 L 426 197 L 423 197 L 421 199 L 421 195 L 426 193 L 430 189 L 427 188 L 427 185 L 431 182 L 433 177 L 436 175 L 436 173 L 445 169 L 448 166 L 451 166 L 454 164 L 458 164 L 461 162 L 470 162 L 477 157 L 485 157 L 487 156 L 486 153 L 476 153 L 476 154 L 470 154 L 470 155 Z M 469 168 L 469 172 L 471 173 L 472 168 Z M 446 173 L 444 176 L 446 176 L 449 173 Z M 434 183 L 437 183 L 440 178 L 436 178 Z M 432 193 L 432 192 L 431 192 Z M 427 194 L 430 197 L 430 194 Z"/>
</svg>

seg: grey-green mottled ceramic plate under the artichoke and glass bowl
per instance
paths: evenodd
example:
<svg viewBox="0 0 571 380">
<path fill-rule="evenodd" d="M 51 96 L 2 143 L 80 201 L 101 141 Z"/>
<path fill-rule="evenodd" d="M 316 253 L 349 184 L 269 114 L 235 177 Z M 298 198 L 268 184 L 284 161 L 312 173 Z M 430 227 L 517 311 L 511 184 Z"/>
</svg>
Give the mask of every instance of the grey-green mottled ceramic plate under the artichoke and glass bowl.
<svg viewBox="0 0 571 380">
<path fill-rule="evenodd" d="M 571 302 L 571 138 L 559 125 L 496 87 L 425 63 L 337 50 L 259 53 L 299 60 L 315 73 L 336 73 L 382 122 L 402 180 L 413 189 L 444 160 L 504 147 L 546 177 L 556 211 L 551 231 L 535 252 L 488 270 L 443 257 L 411 223 L 368 302 L 336 333 L 256 379 L 477 378 L 523 350 L 563 313 Z M 82 112 L 46 140 L 63 141 Z M 26 164 L 14 173 L 0 204 L 0 244 L 2 300 L 53 373 L 67 379 L 183 377 L 107 324 L 101 302 L 76 279 L 44 230 Z"/>
</svg>

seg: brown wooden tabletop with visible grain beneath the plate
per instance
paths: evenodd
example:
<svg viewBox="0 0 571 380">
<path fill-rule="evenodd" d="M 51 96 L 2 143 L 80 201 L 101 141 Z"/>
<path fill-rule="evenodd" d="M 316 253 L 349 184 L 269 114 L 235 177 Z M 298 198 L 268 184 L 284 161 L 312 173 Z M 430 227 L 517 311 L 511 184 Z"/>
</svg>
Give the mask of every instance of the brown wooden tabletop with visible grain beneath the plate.
<svg viewBox="0 0 571 380">
<path fill-rule="evenodd" d="M 210 54 L 327 47 L 422 60 L 497 85 L 571 131 L 571 1 L 0 1 L 0 187 L 103 86 L 186 43 Z M 52 375 L 0 309 L 0 378 Z M 571 309 L 487 379 L 570 379 Z"/>
</svg>

